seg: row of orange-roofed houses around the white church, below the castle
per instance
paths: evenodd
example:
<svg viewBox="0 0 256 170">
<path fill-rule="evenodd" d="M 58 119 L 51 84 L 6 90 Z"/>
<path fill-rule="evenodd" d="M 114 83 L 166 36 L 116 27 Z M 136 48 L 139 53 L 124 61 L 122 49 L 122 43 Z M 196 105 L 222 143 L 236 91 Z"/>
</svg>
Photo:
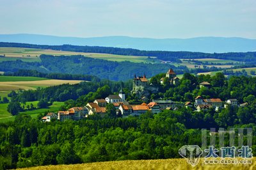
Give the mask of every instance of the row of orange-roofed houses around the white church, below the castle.
<svg viewBox="0 0 256 170">
<path fill-rule="evenodd" d="M 51 121 L 52 118 L 65 121 L 65 120 L 81 120 L 87 118 L 93 114 L 99 114 L 100 116 L 106 116 L 106 105 L 113 104 L 116 109 L 116 114 L 125 116 L 139 116 L 147 111 L 151 111 L 157 114 L 164 109 L 177 109 L 179 104 L 172 100 L 153 100 L 149 104 L 143 102 L 140 105 L 130 105 L 125 101 L 125 94 L 121 90 L 119 95 L 109 95 L 105 99 L 96 99 L 93 102 L 89 102 L 84 107 L 72 107 L 68 111 L 58 111 L 57 114 L 49 112 L 42 121 Z"/>
</svg>

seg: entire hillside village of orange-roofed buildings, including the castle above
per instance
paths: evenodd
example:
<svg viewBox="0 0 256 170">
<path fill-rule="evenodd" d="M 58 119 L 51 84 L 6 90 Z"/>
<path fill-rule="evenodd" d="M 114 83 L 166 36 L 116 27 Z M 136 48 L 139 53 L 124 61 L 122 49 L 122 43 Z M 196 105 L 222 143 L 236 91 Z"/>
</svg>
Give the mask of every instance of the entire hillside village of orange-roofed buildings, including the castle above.
<svg viewBox="0 0 256 170">
<path fill-rule="evenodd" d="M 161 84 L 163 84 L 164 78 L 167 78 L 168 81 L 170 81 L 170 84 L 174 86 L 179 84 L 179 78 L 171 68 L 170 70 L 168 70 L 168 72 L 166 72 L 166 77 L 163 77 L 161 79 Z M 211 84 L 209 82 L 201 82 L 198 85 L 200 88 L 211 87 Z M 141 96 L 148 89 L 152 91 L 157 91 L 156 88 L 150 86 L 146 75 L 143 75 L 142 77 L 136 77 L 136 75 L 134 75 L 131 93 L 136 93 Z M 201 96 L 196 97 L 194 102 L 185 102 L 184 104 L 180 102 L 174 102 L 172 100 L 162 100 L 160 98 L 157 100 L 153 99 L 148 104 L 143 102 L 140 105 L 132 105 L 125 100 L 125 93 L 124 91 L 122 91 L 121 88 L 121 90 L 118 92 L 118 95 L 109 95 L 106 98 L 96 99 L 93 102 L 89 102 L 84 106 L 72 107 L 67 111 L 58 111 L 58 113 L 48 112 L 42 118 L 42 121 L 49 122 L 52 119 L 56 119 L 59 121 L 81 120 L 83 118 L 88 118 L 88 116 L 91 116 L 93 114 L 98 114 L 101 117 L 104 117 L 107 115 L 106 106 L 108 104 L 113 104 L 116 109 L 116 115 L 120 115 L 122 117 L 140 116 L 147 111 L 151 111 L 154 114 L 157 114 L 165 109 L 175 111 L 180 107 L 191 107 L 195 112 L 200 112 L 211 108 L 213 108 L 215 111 L 219 111 L 219 109 L 223 107 L 227 108 L 228 105 L 239 107 L 244 107 L 245 105 L 247 105 L 247 103 L 238 104 L 236 98 L 231 98 L 224 102 L 220 98 L 202 98 Z"/>
</svg>

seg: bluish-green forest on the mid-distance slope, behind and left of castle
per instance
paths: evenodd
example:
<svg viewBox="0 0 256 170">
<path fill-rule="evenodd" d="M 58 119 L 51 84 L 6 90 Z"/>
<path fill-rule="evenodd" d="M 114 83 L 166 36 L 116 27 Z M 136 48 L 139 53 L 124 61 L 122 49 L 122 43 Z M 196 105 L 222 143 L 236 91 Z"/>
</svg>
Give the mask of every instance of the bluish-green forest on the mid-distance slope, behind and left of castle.
<svg viewBox="0 0 256 170">
<path fill-rule="evenodd" d="M 17 72 L 21 70 L 37 70 L 42 73 L 68 73 L 81 75 L 94 75 L 100 79 L 124 81 L 136 75 L 152 77 L 156 73 L 166 72 L 170 67 L 176 73 L 188 70 L 186 66 L 173 66 L 150 63 L 131 63 L 129 61 L 116 62 L 102 59 L 87 58 L 84 56 L 40 56 L 41 62 L 2 61 L 1 71 Z"/>
</svg>

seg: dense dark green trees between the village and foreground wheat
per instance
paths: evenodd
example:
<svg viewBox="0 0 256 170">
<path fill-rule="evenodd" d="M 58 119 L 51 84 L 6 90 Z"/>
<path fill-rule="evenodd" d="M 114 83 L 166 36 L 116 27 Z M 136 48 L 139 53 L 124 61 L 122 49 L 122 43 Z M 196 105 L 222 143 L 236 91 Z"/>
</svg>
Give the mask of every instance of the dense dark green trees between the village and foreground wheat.
<svg viewBox="0 0 256 170">
<path fill-rule="evenodd" d="M 183 108 L 159 114 L 147 112 L 140 117 L 92 116 L 86 120 L 51 123 L 42 123 L 40 116 L 31 119 L 28 115 L 19 115 L 14 122 L 0 123 L 0 168 L 178 158 L 178 150 L 183 145 L 201 146 L 200 128 L 209 123 L 211 114 Z M 232 112 L 229 116 L 236 114 Z M 221 126 L 218 121 L 215 125 Z M 253 128 L 255 153 L 255 123 L 230 125 Z"/>
</svg>

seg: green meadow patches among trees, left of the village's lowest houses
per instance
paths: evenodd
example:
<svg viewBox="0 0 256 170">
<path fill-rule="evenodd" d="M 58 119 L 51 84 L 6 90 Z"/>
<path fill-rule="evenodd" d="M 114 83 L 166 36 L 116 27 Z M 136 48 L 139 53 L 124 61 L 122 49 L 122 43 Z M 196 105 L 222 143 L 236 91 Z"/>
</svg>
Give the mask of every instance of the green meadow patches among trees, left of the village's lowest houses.
<svg viewBox="0 0 256 170">
<path fill-rule="evenodd" d="M 34 102 L 26 102 L 26 105 L 33 104 L 34 107 L 37 107 L 38 101 Z M 54 102 L 52 105 L 49 106 L 49 108 L 46 109 L 35 109 L 32 111 L 24 111 L 20 112 L 20 114 L 29 114 L 32 118 L 36 118 L 36 116 L 40 113 L 45 113 L 45 112 L 57 112 L 60 109 L 60 106 L 63 105 L 64 102 Z M 25 105 L 25 109 L 26 109 Z M 15 116 L 12 116 L 10 112 L 7 111 L 8 104 L 0 104 L 0 123 L 1 122 L 6 122 L 6 121 L 13 121 Z"/>
</svg>

